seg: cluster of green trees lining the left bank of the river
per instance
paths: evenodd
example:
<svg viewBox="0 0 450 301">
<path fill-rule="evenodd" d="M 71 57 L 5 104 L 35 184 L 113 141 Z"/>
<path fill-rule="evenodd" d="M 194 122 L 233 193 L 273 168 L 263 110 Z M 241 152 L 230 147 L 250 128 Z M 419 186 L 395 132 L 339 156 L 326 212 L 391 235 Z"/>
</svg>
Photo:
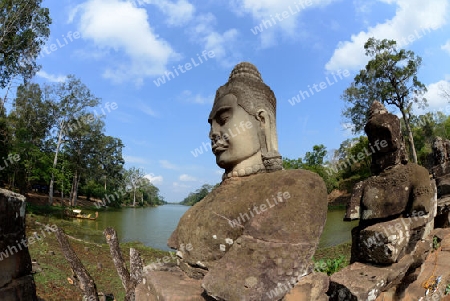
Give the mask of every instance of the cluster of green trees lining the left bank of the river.
<svg viewBox="0 0 450 301">
<path fill-rule="evenodd" d="M 73 206 L 79 194 L 117 207 L 165 203 L 142 170 L 124 168 L 124 144 L 105 135 L 104 116 L 91 112 L 99 99 L 75 76 L 51 86 L 23 84 L 15 94 L 9 114 L 0 112 L 2 158 L 19 158 L 0 165 L 3 186 L 50 193 L 52 183 Z"/>
</svg>

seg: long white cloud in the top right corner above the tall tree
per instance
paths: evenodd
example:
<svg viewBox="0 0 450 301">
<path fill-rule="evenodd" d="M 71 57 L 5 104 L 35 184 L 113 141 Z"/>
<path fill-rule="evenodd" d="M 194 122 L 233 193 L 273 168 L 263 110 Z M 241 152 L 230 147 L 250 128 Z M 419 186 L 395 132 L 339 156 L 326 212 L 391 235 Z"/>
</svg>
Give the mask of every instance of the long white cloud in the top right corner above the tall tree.
<svg viewBox="0 0 450 301">
<path fill-rule="evenodd" d="M 351 36 L 351 41 L 338 44 L 333 56 L 325 65 L 328 71 L 338 69 L 358 70 L 365 65 L 364 43 L 370 38 L 393 39 L 404 48 L 414 40 L 420 39 L 431 30 L 436 30 L 446 23 L 448 0 L 380 0 L 397 5 L 396 15 L 385 23 L 369 27 Z"/>
</svg>

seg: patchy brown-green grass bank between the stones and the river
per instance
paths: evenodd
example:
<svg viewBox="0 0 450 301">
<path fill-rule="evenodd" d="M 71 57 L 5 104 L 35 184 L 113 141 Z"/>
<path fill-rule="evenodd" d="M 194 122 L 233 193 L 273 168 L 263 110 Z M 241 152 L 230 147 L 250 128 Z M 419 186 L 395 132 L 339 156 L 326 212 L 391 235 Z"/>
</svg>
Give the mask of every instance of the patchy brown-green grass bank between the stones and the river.
<svg viewBox="0 0 450 301">
<path fill-rule="evenodd" d="M 43 212 L 48 213 L 50 210 L 53 216 L 59 216 L 59 208 L 34 207 L 30 209 L 32 213 L 27 214 L 27 236 L 31 237 L 33 232 L 37 232 L 41 236 L 41 239 L 36 240 L 35 243 L 29 246 L 31 258 L 38 262 L 38 268 L 40 269 L 34 275 L 38 297 L 45 301 L 81 300 L 79 289 L 69 283 L 68 278 L 71 277 L 73 279 L 70 265 L 64 258 L 55 235 L 50 231 L 45 232 L 44 230 L 42 232 L 43 225 L 56 225 L 64 229 L 66 234 L 73 237 L 69 239 L 69 242 L 95 280 L 98 291 L 112 293 L 116 300 L 123 300 L 124 289 L 106 242 L 94 244 L 75 239 L 75 237 L 103 236 L 103 229 L 96 231 L 81 227 L 72 220 L 42 215 Z M 45 237 L 43 237 L 42 233 L 45 233 Z M 145 265 L 169 255 L 169 252 L 146 247 L 141 243 L 124 243 L 121 244 L 121 249 L 126 262 L 129 262 L 130 247 L 139 250 Z M 346 265 L 350 260 L 350 243 L 317 250 L 314 260 L 316 266 L 317 263 L 320 263 L 319 266 L 325 267 L 324 272 L 333 271 L 336 266 Z"/>
</svg>

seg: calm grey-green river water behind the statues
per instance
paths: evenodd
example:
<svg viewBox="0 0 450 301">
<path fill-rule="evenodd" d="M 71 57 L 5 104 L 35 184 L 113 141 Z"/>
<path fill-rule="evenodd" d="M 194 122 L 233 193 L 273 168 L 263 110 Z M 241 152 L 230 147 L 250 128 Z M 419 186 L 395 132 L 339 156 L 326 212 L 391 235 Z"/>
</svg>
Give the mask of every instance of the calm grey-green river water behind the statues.
<svg viewBox="0 0 450 301">
<path fill-rule="evenodd" d="M 99 218 L 95 221 L 74 219 L 73 222 L 100 231 L 107 227 L 113 227 L 121 242 L 140 241 L 146 246 L 170 251 L 167 247 L 167 240 L 175 230 L 181 216 L 189 208 L 172 204 L 159 207 L 123 208 L 117 211 L 100 211 Z M 344 222 L 344 213 L 343 210 L 328 212 L 319 248 L 351 240 L 351 229 L 358 222 Z M 105 238 L 100 234 L 79 238 L 99 243 L 105 242 Z"/>
</svg>

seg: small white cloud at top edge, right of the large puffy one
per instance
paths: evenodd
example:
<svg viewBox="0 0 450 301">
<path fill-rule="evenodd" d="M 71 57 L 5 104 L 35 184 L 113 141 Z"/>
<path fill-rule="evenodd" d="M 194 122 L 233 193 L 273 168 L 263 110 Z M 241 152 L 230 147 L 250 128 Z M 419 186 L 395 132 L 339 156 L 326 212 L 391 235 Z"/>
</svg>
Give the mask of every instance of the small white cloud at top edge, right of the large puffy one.
<svg viewBox="0 0 450 301">
<path fill-rule="evenodd" d="M 167 0 L 137 0 L 139 4 L 154 4 L 164 15 L 167 16 L 166 23 L 170 26 L 183 26 L 194 16 L 195 7 L 187 0 L 170 2 Z"/>
</svg>

